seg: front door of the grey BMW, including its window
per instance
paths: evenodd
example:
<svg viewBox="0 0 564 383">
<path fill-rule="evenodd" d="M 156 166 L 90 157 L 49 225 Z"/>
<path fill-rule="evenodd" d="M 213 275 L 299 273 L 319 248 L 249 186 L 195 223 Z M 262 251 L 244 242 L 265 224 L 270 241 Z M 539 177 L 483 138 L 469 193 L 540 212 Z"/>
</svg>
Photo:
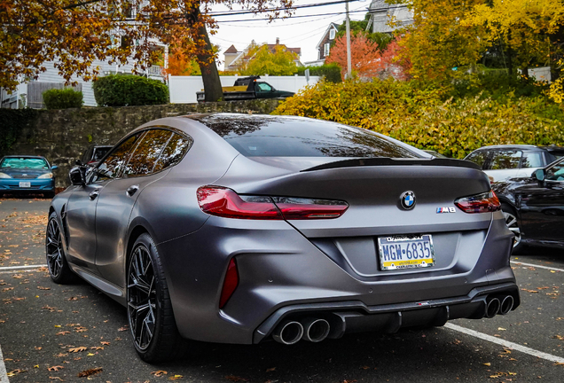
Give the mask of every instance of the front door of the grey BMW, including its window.
<svg viewBox="0 0 564 383">
<path fill-rule="evenodd" d="M 68 199 L 66 216 L 68 228 L 68 255 L 70 261 L 91 272 L 98 273 L 96 261 L 96 206 L 98 195 L 112 182 L 121 167 L 127 163 L 139 135 L 129 137 L 116 145 L 98 168 L 87 174 L 84 186 L 75 186 Z"/>
</svg>

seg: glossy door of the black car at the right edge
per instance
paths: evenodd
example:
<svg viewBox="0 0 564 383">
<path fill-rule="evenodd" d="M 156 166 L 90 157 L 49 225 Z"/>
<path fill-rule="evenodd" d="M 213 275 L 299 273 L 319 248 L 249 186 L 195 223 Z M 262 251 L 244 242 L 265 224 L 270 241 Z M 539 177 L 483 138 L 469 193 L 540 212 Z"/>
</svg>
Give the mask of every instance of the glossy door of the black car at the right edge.
<svg viewBox="0 0 564 383">
<path fill-rule="evenodd" d="M 544 182 L 531 180 L 516 192 L 526 238 L 564 243 L 564 161 L 546 169 Z"/>
</svg>

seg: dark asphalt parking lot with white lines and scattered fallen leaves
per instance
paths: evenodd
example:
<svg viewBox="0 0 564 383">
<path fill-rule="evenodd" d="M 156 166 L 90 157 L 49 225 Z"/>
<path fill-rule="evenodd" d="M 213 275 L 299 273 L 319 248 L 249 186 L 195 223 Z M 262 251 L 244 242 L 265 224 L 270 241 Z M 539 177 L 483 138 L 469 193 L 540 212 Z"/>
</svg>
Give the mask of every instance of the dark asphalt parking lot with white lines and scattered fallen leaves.
<svg viewBox="0 0 564 383">
<path fill-rule="evenodd" d="M 507 316 L 290 347 L 195 343 L 151 365 L 130 344 L 124 308 L 86 283 L 51 282 L 48 207 L 0 199 L 0 383 L 563 381 L 564 251 L 513 257 L 521 306 Z"/>
</svg>

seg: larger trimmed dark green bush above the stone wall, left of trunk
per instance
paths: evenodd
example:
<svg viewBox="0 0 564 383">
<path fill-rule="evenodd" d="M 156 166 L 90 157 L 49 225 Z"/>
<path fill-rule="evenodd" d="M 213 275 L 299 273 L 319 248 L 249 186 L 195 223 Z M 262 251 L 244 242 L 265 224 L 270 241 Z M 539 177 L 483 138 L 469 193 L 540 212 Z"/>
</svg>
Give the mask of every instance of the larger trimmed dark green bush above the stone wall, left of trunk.
<svg viewBox="0 0 564 383">
<path fill-rule="evenodd" d="M 110 74 L 92 85 L 98 106 L 168 104 L 168 86 L 133 74 Z"/>
</svg>

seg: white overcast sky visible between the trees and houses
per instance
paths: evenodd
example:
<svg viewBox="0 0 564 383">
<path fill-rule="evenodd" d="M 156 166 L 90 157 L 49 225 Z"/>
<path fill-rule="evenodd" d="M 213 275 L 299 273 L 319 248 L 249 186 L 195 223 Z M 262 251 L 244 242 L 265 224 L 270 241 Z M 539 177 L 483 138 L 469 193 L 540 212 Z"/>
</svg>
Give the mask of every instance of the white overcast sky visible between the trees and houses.
<svg viewBox="0 0 564 383">
<path fill-rule="evenodd" d="M 325 4 L 333 1 L 335 0 L 295 0 L 294 4 Z M 351 0 L 349 3 L 350 20 L 363 20 L 370 3 L 370 0 Z M 224 7 L 216 6 L 213 11 L 225 10 Z M 325 13 L 341 14 L 324 15 Z M 306 15 L 312 16 L 294 18 L 294 16 Z M 231 44 L 235 45 L 238 51 L 242 51 L 252 40 L 255 40 L 256 43 L 276 43 L 277 37 L 280 38 L 280 43 L 286 44 L 289 48 L 302 48 L 302 63 L 316 60 L 316 45 L 329 23 L 341 24 L 345 20 L 345 4 L 302 8 L 295 10 L 294 16 L 271 23 L 263 20 L 235 21 L 263 19 L 264 15 L 261 14 L 216 17 L 216 20 L 220 21 L 219 29 L 216 35 L 210 35 L 210 39 L 212 43 L 220 47 L 219 59 L 222 60 L 219 65 L 220 69 L 223 69 L 223 51 L 227 50 Z"/>
</svg>

